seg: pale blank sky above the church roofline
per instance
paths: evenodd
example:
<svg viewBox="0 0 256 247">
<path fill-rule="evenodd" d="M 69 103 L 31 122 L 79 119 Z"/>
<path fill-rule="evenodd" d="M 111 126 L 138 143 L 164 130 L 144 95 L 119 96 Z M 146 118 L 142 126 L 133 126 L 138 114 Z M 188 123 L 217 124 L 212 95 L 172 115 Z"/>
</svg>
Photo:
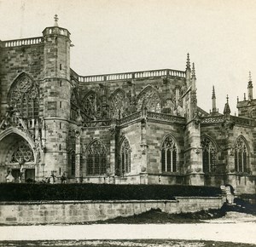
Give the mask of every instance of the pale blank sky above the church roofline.
<svg viewBox="0 0 256 247">
<path fill-rule="evenodd" d="M 214 85 L 219 112 L 228 94 L 233 115 L 249 71 L 256 82 L 254 0 L 0 0 L 0 39 L 41 36 L 55 14 L 80 75 L 185 70 L 189 52 L 198 105 L 209 112 Z"/>
</svg>

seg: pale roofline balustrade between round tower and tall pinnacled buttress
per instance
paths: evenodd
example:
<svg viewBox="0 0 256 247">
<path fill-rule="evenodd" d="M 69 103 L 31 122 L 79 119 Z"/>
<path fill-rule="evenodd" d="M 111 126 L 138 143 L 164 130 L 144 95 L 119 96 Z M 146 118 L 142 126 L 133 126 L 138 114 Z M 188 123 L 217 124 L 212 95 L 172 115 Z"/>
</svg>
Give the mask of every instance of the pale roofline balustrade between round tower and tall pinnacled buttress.
<svg viewBox="0 0 256 247">
<path fill-rule="evenodd" d="M 185 78 L 186 73 L 177 70 L 163 69 L 154 71 L 144 72 L 127 72 L 127 73 L 116 73 L 116 74 L 105 74 L 95 76 L 79 76 L 80 83 L 90 82 L 104 82 L 104 81 L 115 81 L 115 80 L 127 80 L 137 78 L 161 78 L 161 77 L 177 77 Z"/>
</svg>

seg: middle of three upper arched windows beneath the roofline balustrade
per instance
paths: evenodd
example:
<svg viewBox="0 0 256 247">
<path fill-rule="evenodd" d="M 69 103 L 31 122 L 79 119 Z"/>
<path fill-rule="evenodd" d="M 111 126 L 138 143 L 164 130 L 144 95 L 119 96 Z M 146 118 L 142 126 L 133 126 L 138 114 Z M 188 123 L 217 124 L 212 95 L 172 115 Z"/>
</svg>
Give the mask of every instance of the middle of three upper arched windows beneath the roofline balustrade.
<svg viewBox="0 0 256 247">
<path fill-rule="evenodd" d="M 110 118 L 123 118 L 125 114 L 125 93 L 117 89 L 110 98 Z"/>
</svg>

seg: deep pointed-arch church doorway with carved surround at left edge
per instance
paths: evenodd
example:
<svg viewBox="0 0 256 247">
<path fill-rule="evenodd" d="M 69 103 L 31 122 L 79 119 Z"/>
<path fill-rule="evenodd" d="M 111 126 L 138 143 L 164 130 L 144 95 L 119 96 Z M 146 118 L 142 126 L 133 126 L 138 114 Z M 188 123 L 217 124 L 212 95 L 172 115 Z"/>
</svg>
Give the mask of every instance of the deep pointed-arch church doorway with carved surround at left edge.
<svg viewBox="0 0 256 247">
<path fill-rule="evenodd" d="M 13 182 L 35 180 L 35 155 L 29 142 L 15 132 L 1 138 L 0 182 L 6 182 L 7 178 Z"/>
</svg>

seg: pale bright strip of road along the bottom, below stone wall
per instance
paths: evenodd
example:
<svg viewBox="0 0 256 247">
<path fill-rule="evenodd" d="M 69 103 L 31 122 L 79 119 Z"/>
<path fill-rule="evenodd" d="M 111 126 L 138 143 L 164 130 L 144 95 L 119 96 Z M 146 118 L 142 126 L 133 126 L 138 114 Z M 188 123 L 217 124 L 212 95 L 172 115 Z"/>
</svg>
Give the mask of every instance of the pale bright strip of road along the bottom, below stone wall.
<svg viewBox="0 0 256 247">
<path fill-rule="evenodd" d="M 3 240 L 188 239 L 256 244 L 256 223 L 0 227 Z"/>
</svg>

